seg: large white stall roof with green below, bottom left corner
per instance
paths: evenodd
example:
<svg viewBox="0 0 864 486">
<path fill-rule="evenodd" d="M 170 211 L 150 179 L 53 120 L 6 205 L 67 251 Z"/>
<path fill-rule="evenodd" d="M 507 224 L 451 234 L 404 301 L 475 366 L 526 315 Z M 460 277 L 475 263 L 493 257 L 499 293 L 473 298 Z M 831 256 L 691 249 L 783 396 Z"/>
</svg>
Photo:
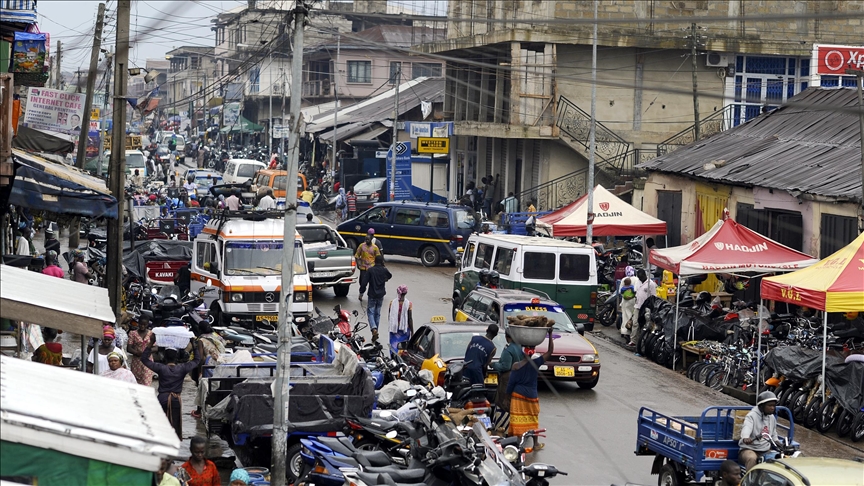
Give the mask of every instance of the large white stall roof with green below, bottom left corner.
<svg viewBox="0 0 864 486">
<path fill-rule="evenodd" d="M 0 356 L 0 395 L 3 441 L 145 471 L 179 455 L 149 386 Z"/>
</svg>

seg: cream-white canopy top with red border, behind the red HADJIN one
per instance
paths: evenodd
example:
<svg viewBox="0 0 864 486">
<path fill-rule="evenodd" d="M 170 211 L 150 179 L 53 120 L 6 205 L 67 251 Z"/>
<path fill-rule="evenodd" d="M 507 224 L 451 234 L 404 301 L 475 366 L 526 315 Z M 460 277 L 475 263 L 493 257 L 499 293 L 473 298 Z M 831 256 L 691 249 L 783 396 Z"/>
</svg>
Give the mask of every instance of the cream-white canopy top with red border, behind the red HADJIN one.
<svg viewBox="0 0 864 486">
<path fill-rule="evenodd" d="M 538 219 L 540 227 L 552 228 L 552 235 L 585 236 L 588 195 Z M 666 223 L 643 213 L 598 185 L 594 188 L 594 236 L 665 235 Z"/>
</svg>

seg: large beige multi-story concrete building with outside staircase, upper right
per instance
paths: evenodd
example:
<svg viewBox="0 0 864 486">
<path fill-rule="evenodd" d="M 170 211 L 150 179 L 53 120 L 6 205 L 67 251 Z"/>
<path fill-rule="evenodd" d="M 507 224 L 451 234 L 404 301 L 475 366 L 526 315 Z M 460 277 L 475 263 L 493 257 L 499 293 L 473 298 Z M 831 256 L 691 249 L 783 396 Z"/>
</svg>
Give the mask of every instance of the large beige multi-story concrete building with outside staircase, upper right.
<svg viewBox="0 0 864 486">
<path fill-rule="evenodd" d="M 453 195 L 496 173 L 499 198 L 513 191 L 543 209 L 585 193 L 593 4 L 449 2 L 447 40 L 422 50 L 450 58 Z M 860 45 L 862 16 L 861 0 L 599 2 L 597 181 L 623 184 L 640 161 L 692 141 L 694 98 L 705 136 L 808 86 L 853 85 L 816 75 L 814 45 Z"/>
</svg>

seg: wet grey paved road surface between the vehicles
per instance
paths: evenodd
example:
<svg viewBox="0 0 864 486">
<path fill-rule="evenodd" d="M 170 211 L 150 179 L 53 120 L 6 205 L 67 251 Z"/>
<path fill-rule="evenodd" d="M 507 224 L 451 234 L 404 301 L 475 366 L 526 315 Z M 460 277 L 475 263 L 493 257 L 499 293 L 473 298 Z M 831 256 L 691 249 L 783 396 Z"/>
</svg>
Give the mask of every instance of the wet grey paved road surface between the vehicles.
<svg viewBox="0 0 864 486">
<path fill-rule="evenodd" d="M 393 279 L 387 286 L 385 303 L 395 295 L 396 286 L 406 284 L 408 298 L 414 302 L 415 325 L 428 322 L 433 315 L 449 316 L 447 296 L 454 267 L 424 268 L 417 259 L 401 257 L 388 257 L 387 267 Z M 315 292 L 314 301 L 325 312 L 340 303 L 365 314 L 365 301 L 357 300 L 355 287 L 346 298 L 335 298 L 332 290 Z M 386 311 L 382 318 L 386 318 Z M 600 352 L 602 363 L 600 383 L 594 390 L 562 383 L 551 388 L 541 385 L 540 424 L 549 432 L 546 448 L 535 454 L 535 460 L 555 464 L 570 473 L 553 481 L 555 484 L 656 484 L 657 476 L 650 474 L 652 458 L 633 454 L 640 407 L 689 415 L 712 405 L 744 405 L 686 376 L 635 357 L 600 332 L 589 339 Z M 796 428 L 796 439 L 809 456 L 864 456 L 864 450 L 804 427 Z"/>
</svg>

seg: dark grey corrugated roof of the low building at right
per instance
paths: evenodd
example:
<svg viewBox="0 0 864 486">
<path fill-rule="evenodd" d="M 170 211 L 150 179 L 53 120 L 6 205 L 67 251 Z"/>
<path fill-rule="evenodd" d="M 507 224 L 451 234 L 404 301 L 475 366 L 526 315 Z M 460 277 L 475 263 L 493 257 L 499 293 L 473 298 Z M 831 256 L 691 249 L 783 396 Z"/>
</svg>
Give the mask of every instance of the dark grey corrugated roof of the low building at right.
<svg viewBox="0 0 864 486">
<path fill-rule="evenodd" d="M 810 88 L 774 111 L 639 165 L 733 185 L 861 200 L 861 134 L 850 88 Z M 723 161 L 722 166 L 706 165 Z M 716 164 L 720 165 L 720 164 Z"/>
</svg>

